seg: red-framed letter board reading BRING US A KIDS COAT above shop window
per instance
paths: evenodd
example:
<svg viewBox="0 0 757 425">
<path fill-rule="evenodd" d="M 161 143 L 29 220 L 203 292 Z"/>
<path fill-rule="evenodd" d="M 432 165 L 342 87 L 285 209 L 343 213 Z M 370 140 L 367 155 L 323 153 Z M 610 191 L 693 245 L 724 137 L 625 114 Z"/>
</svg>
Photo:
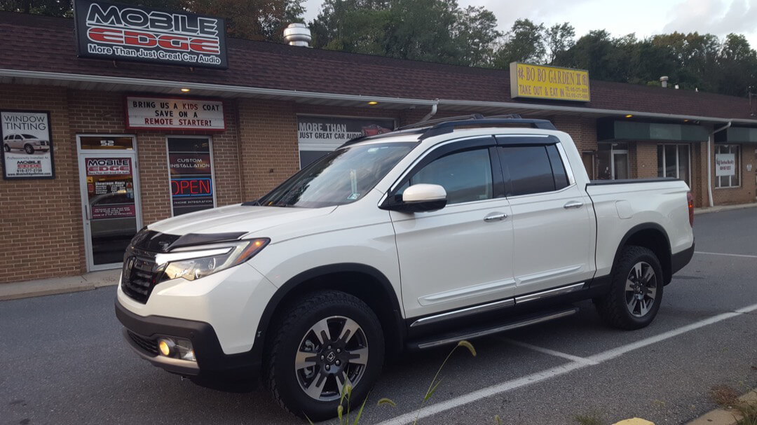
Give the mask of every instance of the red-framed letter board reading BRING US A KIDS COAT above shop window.
<svg viewBox="0 0 757 425">
<path fill-rule="evenodd" d="M 223 132 L 223 101 L 126 96 L 126 128 Z"/>
</svg>

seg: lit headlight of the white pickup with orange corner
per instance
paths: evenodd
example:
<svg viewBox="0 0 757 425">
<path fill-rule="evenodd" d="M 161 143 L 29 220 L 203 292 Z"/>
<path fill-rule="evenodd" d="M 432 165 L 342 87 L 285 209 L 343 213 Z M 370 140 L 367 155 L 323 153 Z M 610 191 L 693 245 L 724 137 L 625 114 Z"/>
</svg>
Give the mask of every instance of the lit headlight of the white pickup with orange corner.
<svg viewBox="0 0 757 425">
<path fill-rule="evenodd" d="M 268 238 L 238 240 L 224 244 L 186 247 L 170 253 L 157 254 L 155 261 L 163 268 L 160 281 L 204 278 L 216 271 L 239 265 L 259 253 L 270 242 Z"/>
</svg>

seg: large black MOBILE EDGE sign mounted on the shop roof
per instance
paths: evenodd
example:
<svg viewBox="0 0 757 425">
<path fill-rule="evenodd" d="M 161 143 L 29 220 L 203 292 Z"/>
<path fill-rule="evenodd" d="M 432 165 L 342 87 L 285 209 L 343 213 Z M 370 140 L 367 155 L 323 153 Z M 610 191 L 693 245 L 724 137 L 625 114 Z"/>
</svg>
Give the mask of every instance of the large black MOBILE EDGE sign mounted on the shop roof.
<svg viewBox="0 0 757 425">
<path fill-rule="evenodd" d="M 73 15 L 79 57 L 229 67 L 222 18 L 99 0 L 76 0 Z"/>
</svg>

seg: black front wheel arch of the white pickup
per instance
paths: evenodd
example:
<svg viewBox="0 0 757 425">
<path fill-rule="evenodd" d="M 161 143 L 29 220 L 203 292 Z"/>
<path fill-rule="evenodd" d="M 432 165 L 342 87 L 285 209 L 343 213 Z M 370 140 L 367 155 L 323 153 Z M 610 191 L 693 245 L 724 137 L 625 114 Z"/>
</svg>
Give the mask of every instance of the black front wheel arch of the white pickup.
<svg viewBox="0 0 757 425">
<path fill-rule="evenodd" d="M 360 284 L 355 284 L 356 281 Z M 259 355 L 263 355 L 263 347 L 269 343 L 268 330 L 279 312 L 305 293 L 323 289 L 341 290 L 365 302 L 382 325 L 387 355 L 400 351 L 405 337 L 402 314 L 397 293 L 389 279 L 369 265 L 337 263 L 303 271 L 276 290 L 263 309 L 257 326 L 255 346 L 260 347 L 256 350 Z"/>
</svg>

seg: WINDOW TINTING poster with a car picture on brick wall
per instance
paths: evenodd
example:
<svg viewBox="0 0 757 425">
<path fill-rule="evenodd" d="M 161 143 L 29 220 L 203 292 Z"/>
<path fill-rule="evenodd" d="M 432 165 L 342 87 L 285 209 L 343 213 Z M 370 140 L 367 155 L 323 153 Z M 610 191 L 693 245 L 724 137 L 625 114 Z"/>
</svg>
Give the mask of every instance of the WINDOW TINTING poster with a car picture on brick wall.
<svg viewBox="0 0 757 425">
<path fill-rule="evenodd" d="M 3 178 L 55 178 L 47 111 L 0 111 Z"/>
</svg>

